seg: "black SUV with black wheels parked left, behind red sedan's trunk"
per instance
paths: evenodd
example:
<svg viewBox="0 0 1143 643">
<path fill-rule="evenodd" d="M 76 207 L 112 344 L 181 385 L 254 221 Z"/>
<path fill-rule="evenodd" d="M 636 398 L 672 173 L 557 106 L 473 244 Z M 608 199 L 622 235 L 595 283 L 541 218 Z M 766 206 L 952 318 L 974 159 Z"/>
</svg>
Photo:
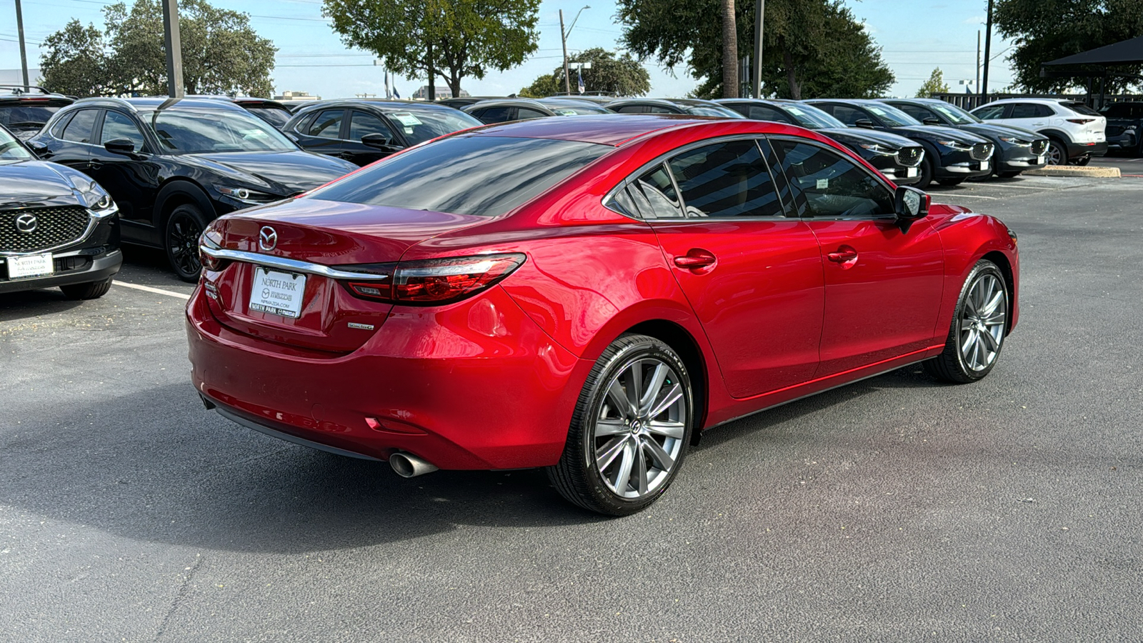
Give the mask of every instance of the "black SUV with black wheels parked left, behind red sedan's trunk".
<svg viewBox="0 0 1143 643">
<path fill-rule="evenodd" d="M 355 169 L 214 98 L 83 98 L 29 145 L 103 185 L 119 205 L 122 240 L 165 248 L 186 281 L 199 277 L 198 240 L 210 220 Z"/>
</svg>

